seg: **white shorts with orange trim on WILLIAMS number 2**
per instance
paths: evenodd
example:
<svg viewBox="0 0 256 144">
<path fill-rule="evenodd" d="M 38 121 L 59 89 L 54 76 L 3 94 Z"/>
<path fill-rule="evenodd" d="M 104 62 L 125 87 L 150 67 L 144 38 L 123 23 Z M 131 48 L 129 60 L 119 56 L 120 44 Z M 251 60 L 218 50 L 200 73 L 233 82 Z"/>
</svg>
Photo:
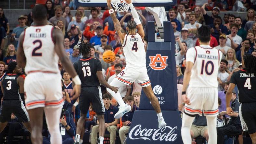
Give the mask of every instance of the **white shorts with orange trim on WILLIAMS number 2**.
<svg viewBox="0 0 256 144">
<path fill-rule="evenodd" d="M 35 72 L 26 76 L 24 81 L 26 108 L 62 107 L 61 75 L 59 73 Z"/>
</svg>

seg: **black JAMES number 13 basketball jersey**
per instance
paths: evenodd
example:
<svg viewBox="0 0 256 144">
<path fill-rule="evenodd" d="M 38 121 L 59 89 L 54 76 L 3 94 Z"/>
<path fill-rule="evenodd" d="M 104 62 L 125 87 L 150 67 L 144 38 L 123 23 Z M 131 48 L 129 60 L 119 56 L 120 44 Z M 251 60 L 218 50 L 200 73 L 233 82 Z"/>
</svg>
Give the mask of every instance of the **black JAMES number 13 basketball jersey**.
<svg viewBox="0 0 256 144">
<path fill-rule="evenodd" d="M 82 81 L 81 87 L 99 86 L 99 80 L 96 76 L 97 71 L 102 71 L 101 63 L 98 59 L 83 57 L 75 62 L 74 68 Z"/>
</svg>

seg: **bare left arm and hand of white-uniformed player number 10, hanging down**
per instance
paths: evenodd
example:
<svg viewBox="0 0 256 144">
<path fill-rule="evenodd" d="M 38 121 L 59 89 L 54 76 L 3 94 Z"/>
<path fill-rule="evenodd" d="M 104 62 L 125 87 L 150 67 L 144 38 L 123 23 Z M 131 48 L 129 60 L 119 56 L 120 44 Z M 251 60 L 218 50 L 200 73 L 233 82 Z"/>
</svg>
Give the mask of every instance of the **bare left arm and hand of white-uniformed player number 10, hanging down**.
<svg viewBox="0 0 256 144">
<path fill-rule="evenodd" d="M 186 92 L 189 81 L 190 81 L 190 76 L 191 76 L 191 69 L 192 69 L 193 63 L 192 62 L 186 62 L 186 70 L 184 73 L 184 78 L 183 78 L 183 87 L 182 87 L 182 92 Z M 186 94 L 182 94 L 182 99 L 183 102 L 190 105 L 190 100 L 187 97 Z"/>
</svg>

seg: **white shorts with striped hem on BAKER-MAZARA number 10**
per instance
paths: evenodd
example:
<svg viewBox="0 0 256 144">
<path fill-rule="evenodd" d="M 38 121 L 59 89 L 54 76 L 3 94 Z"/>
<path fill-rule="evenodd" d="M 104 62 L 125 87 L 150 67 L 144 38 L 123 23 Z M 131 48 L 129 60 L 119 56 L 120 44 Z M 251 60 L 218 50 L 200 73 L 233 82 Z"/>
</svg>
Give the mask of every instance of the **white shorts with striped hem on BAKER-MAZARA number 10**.
<svg viewBox="0 0 256 144">
<path fill-rule="evenodd" d="M 187 97 L 191 104 L 185 104 L 185 114 L 199 114 L 200 116 L 202 113 L 204 116 L 217 116 L 219 114 L 218 88 L 189 87 Z"/>
</svg>

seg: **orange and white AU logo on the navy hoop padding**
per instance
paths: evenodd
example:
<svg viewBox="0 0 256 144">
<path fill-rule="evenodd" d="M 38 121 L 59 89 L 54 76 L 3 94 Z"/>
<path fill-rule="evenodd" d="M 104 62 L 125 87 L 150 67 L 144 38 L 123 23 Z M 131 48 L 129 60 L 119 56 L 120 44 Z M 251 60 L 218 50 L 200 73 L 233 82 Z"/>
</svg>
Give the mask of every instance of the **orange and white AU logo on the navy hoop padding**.
<svg viewBox="0 0 256 144">
<path fill-rule="evenodd" d="M 156 54 L 156 56 L 149 56 L 150 64 L 149 66 L 154 70 L 163 70 L 166 68 L 168 56 L 162 56 L 161 54 Z M 157 64 L 160 64 L 157 66 Z"/>
</svg>

